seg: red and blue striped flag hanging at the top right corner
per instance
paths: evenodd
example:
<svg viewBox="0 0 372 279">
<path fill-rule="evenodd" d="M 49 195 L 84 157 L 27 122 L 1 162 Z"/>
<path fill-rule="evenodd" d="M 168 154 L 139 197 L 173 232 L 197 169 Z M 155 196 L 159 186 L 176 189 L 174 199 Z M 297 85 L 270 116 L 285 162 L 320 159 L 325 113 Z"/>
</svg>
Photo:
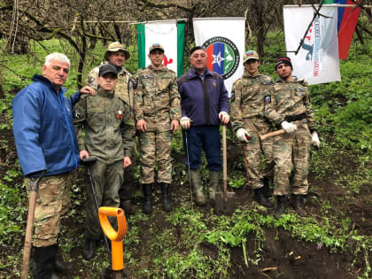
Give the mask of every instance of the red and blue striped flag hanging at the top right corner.
<svg viewBox="0 0 372 279">
<path fill-rule="evenodd" d="M 355 6 L 351 0 L 326 0 L 324 4 L 352 4 Z M 350 44 L 353 41 L 353 34 L 358 22 L 360 8 L 338 7 L 337 13 L 338 58 L 346 59 Z"/>
</svg>

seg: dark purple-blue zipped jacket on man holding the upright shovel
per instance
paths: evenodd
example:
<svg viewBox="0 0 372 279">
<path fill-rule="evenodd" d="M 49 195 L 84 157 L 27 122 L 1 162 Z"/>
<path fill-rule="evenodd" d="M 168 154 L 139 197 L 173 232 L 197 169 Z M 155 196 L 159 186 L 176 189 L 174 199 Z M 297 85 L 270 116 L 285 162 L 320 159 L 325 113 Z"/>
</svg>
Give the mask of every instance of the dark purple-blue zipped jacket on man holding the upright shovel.
<svg viewBox="0 0 372 279">
<path fill-rule="evenodd" d="M 182 117 L 191 120 L 191 126 L 219 126 L 220 112 L 229 113 L 229 93 L 220 74 L 205 71 L 204 79 L 190 68 L 178 79 Z"/>
</svg>

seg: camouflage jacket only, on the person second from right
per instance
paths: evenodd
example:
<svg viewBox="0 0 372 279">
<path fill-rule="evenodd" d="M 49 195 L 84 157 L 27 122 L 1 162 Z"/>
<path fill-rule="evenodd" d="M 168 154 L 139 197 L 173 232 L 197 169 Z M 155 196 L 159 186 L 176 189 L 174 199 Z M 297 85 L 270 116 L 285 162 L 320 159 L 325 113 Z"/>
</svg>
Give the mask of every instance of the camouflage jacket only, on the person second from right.
<svg viewBox="0 0 372 279">
<path fill-rule="evenodd" d="M 251 125 L 270 128 L 270 122 L 265 118 L 265 96 L 273 90 L 274 81 L 268 76 L 259 74 L 251 76 L 246 72 L 234 82 L 233 98 L 231 99 L 231 124 L 236 131 Z M 245 125 L 244 125 L 245 122 Z M 265 131 L 267 133 L 267 131 Z"/>
</svg>

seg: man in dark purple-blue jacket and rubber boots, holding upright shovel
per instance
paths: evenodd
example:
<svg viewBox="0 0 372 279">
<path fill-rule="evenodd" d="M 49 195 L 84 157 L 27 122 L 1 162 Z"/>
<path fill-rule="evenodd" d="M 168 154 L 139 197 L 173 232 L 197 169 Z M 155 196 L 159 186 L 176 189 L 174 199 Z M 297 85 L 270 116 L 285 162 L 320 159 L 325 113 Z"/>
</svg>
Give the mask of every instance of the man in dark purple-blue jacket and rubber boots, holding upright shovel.
<svg viewBox="0 0 372 279">
<path fill-rule="evenodd" d="M 229 123 L 228 91 L 221 75 L 206 68 L 206 61 L 205 48 L 194 47 L 190 51 L 190 71 L 178 80 L 183 143 L 189 152 L 185 164 L 190 166 L 191 184 L 199 206 L 206 204 L 199 169 L 201 149 L 205 151 L 209 169 L 209 203 L 213 205 L 222 168 L 220 120 L 224 125 Z"/>
</svg>

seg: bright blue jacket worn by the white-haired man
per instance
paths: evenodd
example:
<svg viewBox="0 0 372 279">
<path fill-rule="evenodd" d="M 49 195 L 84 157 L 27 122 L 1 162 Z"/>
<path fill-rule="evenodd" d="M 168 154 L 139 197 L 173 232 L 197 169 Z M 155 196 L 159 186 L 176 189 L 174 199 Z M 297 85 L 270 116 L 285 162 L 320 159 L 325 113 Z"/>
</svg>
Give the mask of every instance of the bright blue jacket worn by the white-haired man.
<svg viewBox="0 0 372 279">
<path fill-rule="evenodd" d="M 45 175 L 63 174 L 79 167 L 79 149 L 70 99 L 42 75 L 19 91 L 12 100 L 13 133 L 23 174 L 46 170 Z M 37 175 L 36 175 L 37 176 Z"/>
</svg>

